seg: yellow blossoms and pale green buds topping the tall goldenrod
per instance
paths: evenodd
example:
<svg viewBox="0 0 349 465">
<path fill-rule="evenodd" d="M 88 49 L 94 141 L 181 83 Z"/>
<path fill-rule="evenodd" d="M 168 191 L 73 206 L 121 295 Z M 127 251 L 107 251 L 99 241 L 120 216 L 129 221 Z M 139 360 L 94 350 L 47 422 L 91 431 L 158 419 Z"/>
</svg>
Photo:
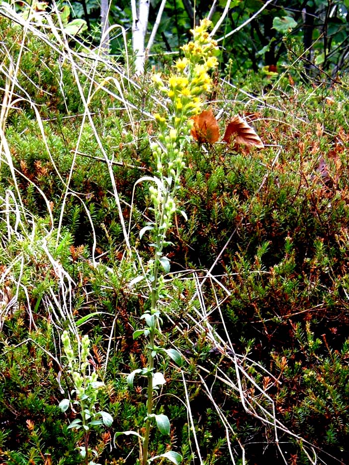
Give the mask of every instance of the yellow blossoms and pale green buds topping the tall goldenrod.
<svg viewBox="0 0 349 465">
<path fill-rule="evenodd" d="M 200 113 L 203 104 L 201 95 L 211 87 L 208 73 L 218 65 L 215 56 L 217 43 L 207 32 L 210 24 L 204 19 L 191 31 L 193 41 L 182 47 L 184 57 L 175 62 L 169 77 L 165 78 L 161 73 L 152 76 L 170 103 L 167 114 L 154 115 L 160 134 L 159 142 L 152 144 L 152 151 L 158 174 L 174 190 L 179 185 L 180 173 L 185 166 L 183 147 L 193 125 L 191 116 Z M 158 208 L 160 203 L 154 205 Z"/>
</svg>

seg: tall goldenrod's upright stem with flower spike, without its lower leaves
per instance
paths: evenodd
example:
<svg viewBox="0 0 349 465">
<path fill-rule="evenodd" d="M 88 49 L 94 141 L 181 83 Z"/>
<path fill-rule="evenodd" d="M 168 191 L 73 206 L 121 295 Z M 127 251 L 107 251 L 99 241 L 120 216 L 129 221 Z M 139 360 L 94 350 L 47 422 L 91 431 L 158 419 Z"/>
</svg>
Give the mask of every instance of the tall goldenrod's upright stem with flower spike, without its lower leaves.
<svg viewBox="0 0 349 465">
<path fill-rule="evenodd" d="M 153 413 L 154 391 L 154 359 L 156 327 L 160 324 L 159 296 L 162 283 L 159 278 L 160 267 L 168 271 L 164 263 L 168 259 L 162 257 L 166 236 L 171 229 L 172 219 L 176 211 L 175 192 L 180 185 L 180 175 L 185 167 L 183 162 L 184 149 L 193 121 L 190 118 L 200 112 L 203 101 L 200 95 L 207 92 L 211 86 L 208 71 L 214 69 L 218 61 L 215 58 L 217 43 L 207 32 L 210 21 L 203 20 L 191 32 L 193 42 L 182 47 L 184 58 L 177 60 L 174 72 L 168 79 L 163 79 L 160 73 L 153 75 L 153 81 L 162 93 L 170 99 L 169 111 L 166 116 L 156 113 L 155 120 L 159 125 L 159 141 L 151 144 L 157 175 L 160 183 L 150 186 L 149 191 L 154 205 L 154 223 L 152 238 L 155 242 L 155 257 L 151 265 L 151 319 L 148 320 L 149 331 L 148 350 L 148 388 L 147 417 L 143 441 L 142 465 L 148 464 L 149 437 Z M 165 262 L 164 262 L 165 260 Z"/>
</svg>

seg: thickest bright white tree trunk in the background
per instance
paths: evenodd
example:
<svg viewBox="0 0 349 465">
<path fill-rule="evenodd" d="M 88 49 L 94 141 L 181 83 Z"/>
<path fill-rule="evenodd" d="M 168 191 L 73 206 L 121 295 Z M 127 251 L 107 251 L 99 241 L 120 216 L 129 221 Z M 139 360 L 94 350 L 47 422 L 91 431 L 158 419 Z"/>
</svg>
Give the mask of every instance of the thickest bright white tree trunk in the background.
<svg viewBox="0 0 349 465">
<path fill-rule="evenodd" d="M 132 7 L 132 48 L 136 55 L 136 74 L 144 72 L 145 35 L 148 26 L 150 0 L 139 0 L 138 10 L 136 0 L 131 0 Z"/>
</svg>

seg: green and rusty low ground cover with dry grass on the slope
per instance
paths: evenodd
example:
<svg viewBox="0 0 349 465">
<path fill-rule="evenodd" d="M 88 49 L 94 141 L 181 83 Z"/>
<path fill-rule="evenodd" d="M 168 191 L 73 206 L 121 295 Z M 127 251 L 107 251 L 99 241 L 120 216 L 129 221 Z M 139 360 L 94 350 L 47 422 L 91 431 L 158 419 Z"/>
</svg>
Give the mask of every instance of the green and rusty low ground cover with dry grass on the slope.
<svg viewBox="0 0 349 465">
<path fill-rule="evenodd" d="M 193 95 L 170 68 L 133 81 L 112 61 L 68 59 L 34 26 L 0 16 L 0 30 L 1 461 L 84 461 L 83 428 L 69 428 L 80 411 L 59 408 L 77 395 L 67 331 L 77 359 L 88 335 L 84 370 L 103 381 L 96 411 L 113 418 L 89 430 L 89 461 L 141 463 L 149 375 L 132 389 L 127 376 L 148 363 L 149 342 L 134 335 L 152 313 L 145 277 L 156 246 L 140 231 L 156 205 L 137 182 L 164 172 L 159 127 L 177 140 L 172 126 L 186 124 L 177 113 Z M 184 57 L 177 73 L 186 66 Z M 264 148 L 199 144 L 190 128 L 178 136 L 185 169 L 154 336 L 166 383 L 153 402 L 171 431 L 152 428 L 150 458 L 346 464 L 348 79 L 305 86 L 289 69 L 266 89 L 258 76 L 209 87 L 206 71 L 202 108 L 220 116 L 221 134 L 239 113 Z M 180 367 L 161 357 L 169 349 Z"/>
</svg>

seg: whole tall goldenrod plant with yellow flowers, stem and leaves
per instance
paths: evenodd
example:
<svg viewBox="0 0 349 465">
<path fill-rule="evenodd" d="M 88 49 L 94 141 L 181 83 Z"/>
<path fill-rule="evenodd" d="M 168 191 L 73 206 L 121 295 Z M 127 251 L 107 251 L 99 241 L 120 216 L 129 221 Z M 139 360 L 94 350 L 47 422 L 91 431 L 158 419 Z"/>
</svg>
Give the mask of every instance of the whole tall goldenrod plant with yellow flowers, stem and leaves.
<svg viewBox="0 0 349 465">
<path fill-rule="evenodd" d="M 159 430 L 164 434 L 170 433 L 170 421 L 164 414 L 153 413 L 153 395 L 155 389 L 164 384 L 163 373 L 155 372 L 155 359 L 160 351 L 165 351 L 174 362 L 180 364 L 181 356 L 175 349 L 160 349 L 156 344 L 156 335 L 161 325 L 160 299 L 163 296 L 165 279 L 164 274 L 170 271 L 170 260 L 164 253 L 164 247 L 170 244 L 168 235 L 173 226 L 174 213 L 180 211 L 175 197 L 180 187 L 180 176 L 185 168 L 184 151 L 189 142 L 189 133 L 192 127 L 191 116 L 200 112 L 204 104 L 204 94 L 211 87 L 209 71 L 217 64 L 218 51 L 216 42 L 207 32 L 210 21 L 202 20 L 200 25 L 193 29 L 193 40 L 182 47 L 184 57 L 176 61 L 169 77 L 163 78 L 161 73 L 154 74 L 153 81 L 160 92 L 165 95 L 168 103 L 167 112 L 156 113 L 159 134 L 154 137 L 151 144 L 156 166 L 157 176 L 144 180 L 150 181 L 150 197 L 153 204 L 153 221 L 149 222 L 140 232 L 140 237 L 150 231 L 154 257 L 149 262 L 147 279 L 151 289 L 151 308 L 141 318 L 146 326 L 137 330 L 134 337 L 144 334 L 147 339 L 148 364 L 144 369 L 134 370 L 128 376 L 128 383 L 132 386 L 136 373 L 146 375 L 147 389 L 147 417 L 145 434 L 142 438 L 143 448 L 141 460 L 143 465 L 149 463 L 149 438 L 153 419 L 156 420 Z M 181 456 L 168 451 L 160 457 L 166 457 L 173 463 L 181 461 Z M 154 457 L 152 458 L 154 460 Z"/>
</svg>

